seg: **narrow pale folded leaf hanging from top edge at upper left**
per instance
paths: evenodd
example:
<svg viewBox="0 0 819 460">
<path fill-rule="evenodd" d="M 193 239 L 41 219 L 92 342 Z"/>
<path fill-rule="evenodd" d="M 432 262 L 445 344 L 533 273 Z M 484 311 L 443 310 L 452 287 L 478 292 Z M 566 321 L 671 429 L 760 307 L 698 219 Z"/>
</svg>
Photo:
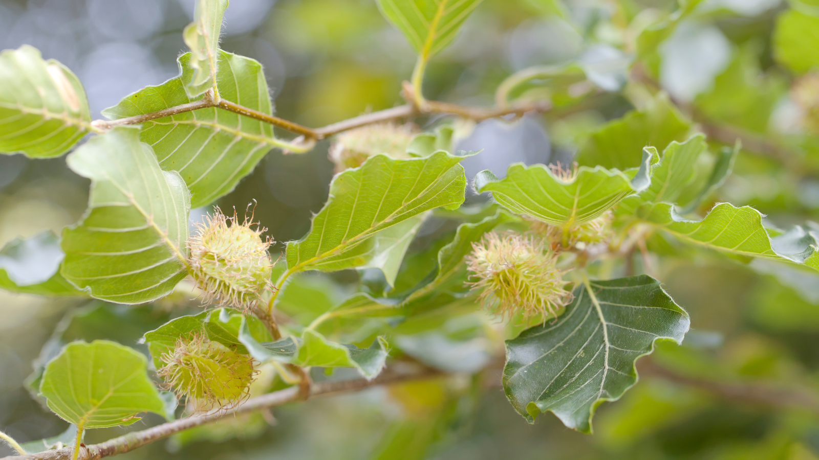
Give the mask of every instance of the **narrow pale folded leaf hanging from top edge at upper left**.
<svg viewBox="0 0 819 460">
<path fill-rule="evenodd" d="M 190 97 L 197 97 L 208 88 L 216 86 L 219 33 L 222 31 L 222 16 L 227 7 L 228 0 L 197 0 L 193 22 L 182 33 L 192 55 L 193 75 L 185 84 L 185 91 Z"/>
</svg>

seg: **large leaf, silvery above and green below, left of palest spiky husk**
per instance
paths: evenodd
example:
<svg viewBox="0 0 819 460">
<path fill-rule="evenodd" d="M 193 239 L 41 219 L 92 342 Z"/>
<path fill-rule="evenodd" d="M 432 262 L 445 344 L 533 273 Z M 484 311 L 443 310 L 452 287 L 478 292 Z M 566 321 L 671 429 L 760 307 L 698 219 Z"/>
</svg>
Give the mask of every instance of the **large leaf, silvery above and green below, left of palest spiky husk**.
<svg viewBox="0 0 819 460">
<path fill-rule="evenodd" d="M 138 126 L 117 126 L 68 156 L 91 179 L 83 220 L 62 233 L 62 276 L 122 304 L 156 300 L 188 274 L 188 188 L 165 172 Z"/>
</svg>

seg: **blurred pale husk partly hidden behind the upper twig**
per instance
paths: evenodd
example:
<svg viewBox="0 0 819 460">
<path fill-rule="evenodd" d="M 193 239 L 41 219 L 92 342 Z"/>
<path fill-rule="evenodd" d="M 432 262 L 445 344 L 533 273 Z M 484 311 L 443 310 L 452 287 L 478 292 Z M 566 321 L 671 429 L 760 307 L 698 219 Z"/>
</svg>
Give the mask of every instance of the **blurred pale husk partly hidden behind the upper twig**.
<svg viewBox="0 0 819 460">
<path fill-rule="evenodd" d="M 337 134 L 328 154 L 337 173 L 358 168 L 379 153 L 396 159 L 409 158 L 406 149 L 417 132 L 413 124 L 370 124 Z"/>
</svg>

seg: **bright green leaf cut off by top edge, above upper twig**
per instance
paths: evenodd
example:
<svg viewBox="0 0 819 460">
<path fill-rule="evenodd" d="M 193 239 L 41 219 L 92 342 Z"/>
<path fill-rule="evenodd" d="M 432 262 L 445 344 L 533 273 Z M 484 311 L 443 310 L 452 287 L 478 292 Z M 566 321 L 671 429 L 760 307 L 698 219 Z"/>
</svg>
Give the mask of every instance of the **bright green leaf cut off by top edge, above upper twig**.
<svg viewBox="0 0 819 460">
<path fill-rule="evenodd" d="M 384 17 L 426 61 L 447 47 L 481 0 L 378 0 Z"/>
</svg>

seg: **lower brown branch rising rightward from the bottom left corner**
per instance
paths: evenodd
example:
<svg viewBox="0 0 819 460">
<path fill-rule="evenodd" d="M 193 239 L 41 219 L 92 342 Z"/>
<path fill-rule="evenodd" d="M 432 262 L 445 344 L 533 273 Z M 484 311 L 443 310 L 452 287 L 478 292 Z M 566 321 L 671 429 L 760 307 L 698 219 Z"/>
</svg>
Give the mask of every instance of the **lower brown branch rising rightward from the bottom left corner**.
<svg viewBox="0 0 819 460">
<path fill-rule="evenodd" d="M 422 380 L 431 377 L 442 375 L 432 368 L 414 368 L 406 372 L 391 372 L 385 371 L 372 381 L 364 379 L 350 380 L 350 381 L 333 381 L 327 383 L 317 383 L 311 386 L 310 394 L 304 398 L 299 386 L 290 386 L 284 390 L 274 391 L 266 395 L 256 396 L 247 399 L 243 404 L 237 408 L 218 411 L 215 413 L 206 413 L 201 415 L 193 415 L 188 418 L 175 420 L 174 422 L 167 422 L 161 425 L 152 426 L 147 430 L 133 431 L 126 435 L 107 440 L 100 444 L 84 445 L 79 449 L 78 460 L 98 460 L 103 457 L 111 457 L 119 453 L 126 453 L 145 444 L 150 444 L 156 440 L 167 438 L 170 435 L 185 431 L 195 426 L 205 425 L 206 423 L 215 422 L 224 417 L 233 417 L 234 415 L 242 413 L 251 413 L 264 408 L 273 408 L 283 404 L 292 403 L 300 399 L 313 398 L 322 395 L 335 395 L 339 393 L 349 393 L 351 391 L 363 390 L 370 386 L 386 385 L 400 381 L 414 381 Z M 69 460 L 71 458 L 72 448 L 66 447 L 63 449 L 52 449 L 40 453 L 31 453 L 29 455 L 13 455 L 11 457 L 4 457 L 0 460 Z"/>
</svg>

